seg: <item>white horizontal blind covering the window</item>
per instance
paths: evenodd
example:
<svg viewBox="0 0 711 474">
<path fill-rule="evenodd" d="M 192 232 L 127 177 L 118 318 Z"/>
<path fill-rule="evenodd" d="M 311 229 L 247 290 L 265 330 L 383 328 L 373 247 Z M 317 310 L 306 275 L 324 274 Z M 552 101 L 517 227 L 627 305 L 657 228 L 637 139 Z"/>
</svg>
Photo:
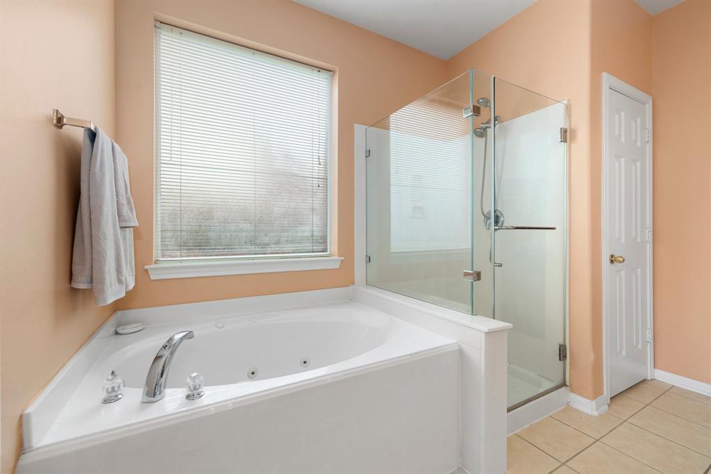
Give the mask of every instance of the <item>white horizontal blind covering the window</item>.
<svg viewBox="0 0 711 474">
<path fill-rule="evenodd" d="M 330 71 L 156 23 L 156 259 L 328 254 Z"/>
</svg>

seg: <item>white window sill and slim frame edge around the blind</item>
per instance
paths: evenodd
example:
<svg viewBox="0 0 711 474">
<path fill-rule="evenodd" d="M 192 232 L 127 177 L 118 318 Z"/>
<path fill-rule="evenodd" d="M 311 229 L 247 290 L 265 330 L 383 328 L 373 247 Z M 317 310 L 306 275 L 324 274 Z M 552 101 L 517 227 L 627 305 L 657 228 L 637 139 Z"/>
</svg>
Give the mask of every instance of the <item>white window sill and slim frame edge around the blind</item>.
<svg viewBox="0 0 711 474">
<path fill-rule="evenodd" d="M 157 22 L 156 22 L 157 23 Z M 198 33 L 203 34 L 203 33 Z M 203 35 L 207 36 L 207 35 Z M 235 43 L 237 46 L 245 48 L 245 46 Z M 250 48 L 254 49 L 254 48 Z M 262 53 L 259 50 L 254 50 Z M 272 55 L 273 56 L 273 55 Z M 316 67 L 316 66 L 314 66 Z M 331 91 L 334 89 L 331 88 Z M 333 98 L 331 98 L 333 101 Z M 336 107 L 331 107 L 331 110 L 336 110 Z M 156 119 L 154 118 L 154 121 Z M 328 117 L 328 127 L 331 129 L 333 117 Z M 333 231 L 333 209 L 331 202 L 333 198 L 333 150 L 331 140 L 331 130 L 328 132 L 328 248 L 331 253 L 331 237 Z M 155 158 L 154 158 L 155 159 Z M 157 185 L 157 182 L 156 182 Z M 154 203 L 156 206 L 156 203 Z M 160 238 L 158 233 L 154 233 L 154 238 Z M 155 249 L 154 245 L 154 249 Z M 155 251 L 155 250 L 154 250 Z M 343 257 L 330 255 L 314 256 L 313 254 L 299 255 L 269 255 L 269 256 L 226 256 L 226 257 L 207 257 L 207 258 L 186 258 L 183 260 L 156 260 L 154 254 L 154 263 L 146 265 L 144 268 L 148 271 L 151 280 L 165 280 L 172 278 L 196 278 L 206 276 L 220 275 L 248 275 L 254 273 L 277 273 L 288 271 L 304 271 L 304 270 L 331 270 L 340 268 Z"/>
</svg>

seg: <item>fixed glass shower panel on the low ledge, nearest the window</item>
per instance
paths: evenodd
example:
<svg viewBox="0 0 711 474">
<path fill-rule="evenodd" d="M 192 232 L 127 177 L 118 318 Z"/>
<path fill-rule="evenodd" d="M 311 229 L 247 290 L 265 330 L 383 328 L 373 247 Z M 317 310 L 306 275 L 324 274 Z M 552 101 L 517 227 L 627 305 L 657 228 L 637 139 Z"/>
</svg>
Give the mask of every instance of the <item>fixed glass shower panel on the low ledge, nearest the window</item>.
<svg viewBox="0 0 711 474">
<path fill-rule="evenodd" d="M 468 71 L 366 130 L 368 285 L 471 313 Z M 488 85 L 487 85 L 488 88 Z"/>
</svg>

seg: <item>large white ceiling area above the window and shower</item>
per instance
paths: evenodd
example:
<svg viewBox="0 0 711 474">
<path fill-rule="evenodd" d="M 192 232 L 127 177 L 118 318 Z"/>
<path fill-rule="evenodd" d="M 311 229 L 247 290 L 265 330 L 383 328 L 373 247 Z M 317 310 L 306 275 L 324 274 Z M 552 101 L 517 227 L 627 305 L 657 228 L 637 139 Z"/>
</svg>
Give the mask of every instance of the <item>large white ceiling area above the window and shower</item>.
<svg viewBox="0 0 711 474">
<path fill-rule="evenodd" d="M 449 59 L 535 0 L 294 1 Z"/>
</svg>

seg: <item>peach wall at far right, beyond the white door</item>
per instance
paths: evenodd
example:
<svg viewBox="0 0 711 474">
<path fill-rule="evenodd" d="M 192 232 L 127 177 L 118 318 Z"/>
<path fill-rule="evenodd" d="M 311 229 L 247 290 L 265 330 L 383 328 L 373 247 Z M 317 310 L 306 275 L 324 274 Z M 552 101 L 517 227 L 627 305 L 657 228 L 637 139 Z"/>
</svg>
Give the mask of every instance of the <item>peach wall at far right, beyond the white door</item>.
<svg viewBox="0 0 711 474">
<path fill-rule="evenodd" d="M 711 1 L 652 29 L 654 362 L 711 384 Z"/>
</svg>

